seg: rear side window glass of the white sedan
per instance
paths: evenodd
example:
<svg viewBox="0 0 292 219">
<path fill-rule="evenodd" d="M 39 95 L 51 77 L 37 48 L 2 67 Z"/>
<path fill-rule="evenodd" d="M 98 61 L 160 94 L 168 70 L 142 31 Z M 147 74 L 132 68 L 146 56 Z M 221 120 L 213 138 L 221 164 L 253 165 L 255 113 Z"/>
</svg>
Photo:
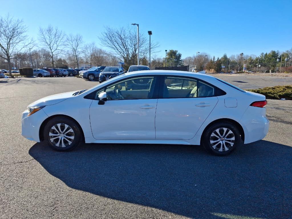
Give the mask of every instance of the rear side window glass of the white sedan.
<svg viewBox="0 0 292 219">
<path fill-rule="evenodd" d="M 164 77 L 163 98 L 211 97 L 215 88 L 197 79 Z"/>
</svg>

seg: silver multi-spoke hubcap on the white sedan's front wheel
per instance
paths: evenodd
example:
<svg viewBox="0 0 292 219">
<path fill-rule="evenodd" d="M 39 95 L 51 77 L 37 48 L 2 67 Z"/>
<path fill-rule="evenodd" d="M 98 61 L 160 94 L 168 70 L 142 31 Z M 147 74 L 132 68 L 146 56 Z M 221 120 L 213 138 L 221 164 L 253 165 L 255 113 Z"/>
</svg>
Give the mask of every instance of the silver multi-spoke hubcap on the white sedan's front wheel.
<svg viewBox="0 0 292 219">
<path fill-rule="evenodd" d="M 64 123 L 58 123 L 52 126 L 49 132 L 51 142 L 57 147 L 67 147 L 74 140 L 73 129 Z"/>
</svg>

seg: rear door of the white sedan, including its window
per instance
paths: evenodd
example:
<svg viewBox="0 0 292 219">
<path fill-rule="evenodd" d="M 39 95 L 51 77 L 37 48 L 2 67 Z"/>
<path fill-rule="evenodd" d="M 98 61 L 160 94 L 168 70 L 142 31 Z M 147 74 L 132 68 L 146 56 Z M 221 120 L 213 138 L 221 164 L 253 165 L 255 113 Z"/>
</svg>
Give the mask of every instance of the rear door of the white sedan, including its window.
<svg viewBox="0 0 292 219">
<path fill-rule="evenodd" d="M 156 139 L 191 139 L 218 102 L 215 87 L 187 77 L 162 76 Z"/>
</svg>

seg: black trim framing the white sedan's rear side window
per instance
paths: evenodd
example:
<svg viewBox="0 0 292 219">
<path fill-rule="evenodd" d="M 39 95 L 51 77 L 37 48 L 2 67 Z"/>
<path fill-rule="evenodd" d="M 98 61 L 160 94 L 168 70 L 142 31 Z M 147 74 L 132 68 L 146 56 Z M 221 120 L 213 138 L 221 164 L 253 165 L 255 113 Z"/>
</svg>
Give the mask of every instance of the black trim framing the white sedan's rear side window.
<svg viewBox="0 0 292 219">
<path fill-rule="evenodd" d="M 208 83 L 207 81 L 204 81 L 204 80 L 201 80 L 201 79 L 198 79 L 198 78 L 192 78 L 192 77 L 188 77 L 188 76 L 178 76 L 178 75 L 168 75 L 168 74 L 163 74 L 163 75 L 160 75 L 160 86 L 159 86 L 159 94 L 158 94 L 158 99 L 178 99 L 178 98 L 208 98 L 208 97 L 163 97 L 163 86 L 164 86 L 164 80 L 165 80 L 165 77 L 176 77 L 176 78 L 186 78 L 186 79 L 192 79 L 192 80 L 197 80 L 197 84 L 199 84 L 199 81 L 205 83 L 205 84 L 208 84 L 210 86 L 212 86 L 214 88 L 214 95 L 213 96 L 208 96 L 208 97 L 218 97 L 218 96 L 223 96 L 223 95 L 216 95 L 217 93 L 217 89 L 220 89 L 218 87 L 216 87 L 215 85 L 213 84 L 210 84 Z M 164 78 L 164 79 L 163 79 Z M 222 90 L 222 89 L 220 89 Z M 222 90 L 223 91 L 223 90 Z M 226 95 L 226 92 L 223 91 Z"/>
</svg>

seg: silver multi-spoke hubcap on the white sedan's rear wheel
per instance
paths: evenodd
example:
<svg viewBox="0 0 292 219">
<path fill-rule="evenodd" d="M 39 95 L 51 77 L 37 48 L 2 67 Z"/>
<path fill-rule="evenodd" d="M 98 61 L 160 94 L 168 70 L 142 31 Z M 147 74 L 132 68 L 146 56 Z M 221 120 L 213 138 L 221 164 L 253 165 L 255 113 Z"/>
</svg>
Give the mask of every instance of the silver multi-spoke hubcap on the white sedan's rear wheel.
<svg viewBox="0 0 292 219">
<path fill-rule="evenodd" d="M 217 151 L 228 151 L 234 141 L 234 133 L 228 128 L 217 128 L 210 136 L 211 146 Z"/>
</svg>

